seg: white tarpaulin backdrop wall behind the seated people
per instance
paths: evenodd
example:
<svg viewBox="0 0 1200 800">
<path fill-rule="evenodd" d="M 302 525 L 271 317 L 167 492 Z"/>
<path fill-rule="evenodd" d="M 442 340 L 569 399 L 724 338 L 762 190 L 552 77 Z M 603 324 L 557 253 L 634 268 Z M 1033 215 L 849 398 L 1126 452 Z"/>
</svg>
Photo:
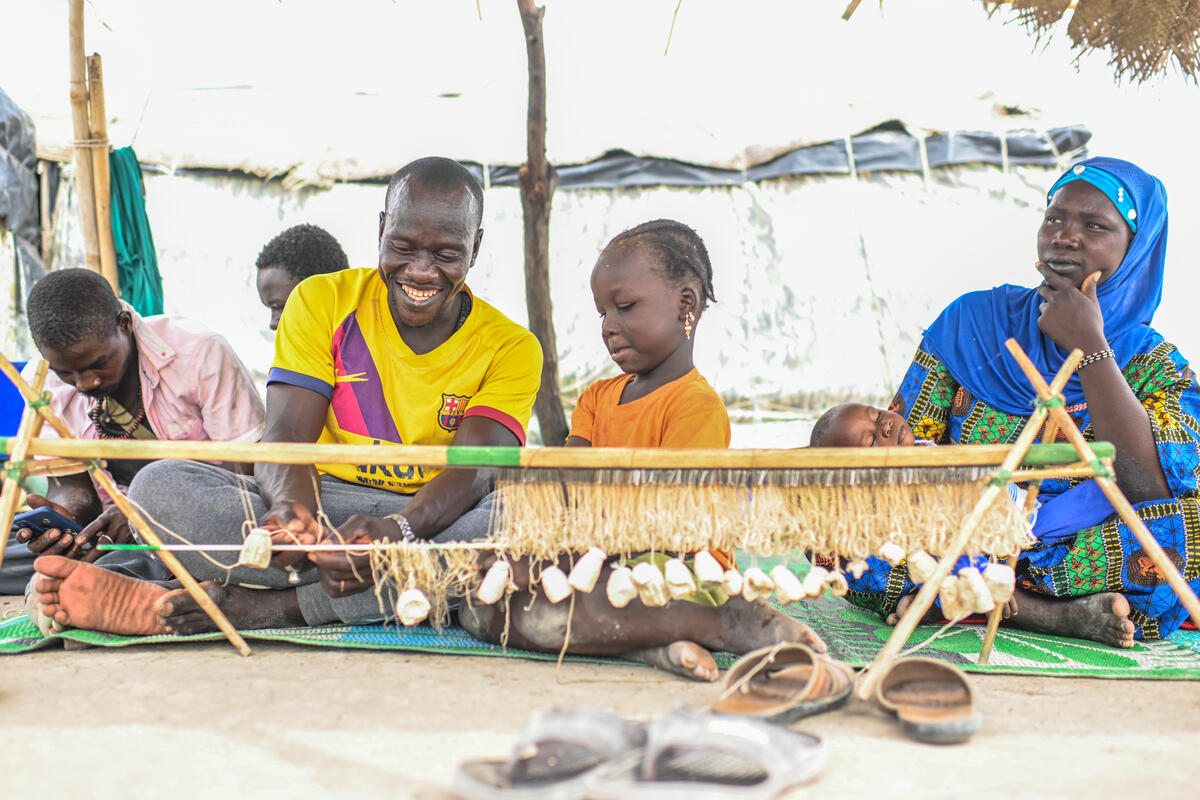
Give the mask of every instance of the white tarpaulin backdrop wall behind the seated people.
<svg viewBox="0 0 1200 800">
<path fill-rule="evenodd" d="M 745 167 L 888 119 L 913 131 L 1044 131 L 1084 124 L 1092 152 L 1166 181 L 1168 287 L 1157 326 L 1200 353 L 1200 91 L 1168 77 L 1114 86 L 1102 58 L 1072 66 L 972 0 L 688 0 L 662 55 L 674 0 L 550 0 L 548 148 L 580 163 L 624 148 Z M 282 228 L 331 230 L 354 265 L 373 265 L 377 185 L 412 157 L 486 164 L 524 157 L 526 64 L 511 0 L 94 0 L 88 49 L 104 56 L 109 133 L 168 169 L 287 175 L 287 191 L 232 175 L 148 175 L 167 308 L 223 331 L 262 369 L 266 313 L 252 263 Z M 0 85 L 67 154 L 66 4 L 0 0 Z M 136 138 L 134 138 L 136 137 Z M 920 326 L 961 291 L 1033 283 L 1033 236 L 1049 170 L 995 167 L 782 179 L 720 188 L 572 191 L 556 196 L 552 293 L 564 384 L 611 371 L 587 275 L 620 229 L 660 216 L 695 225 L 713 253 L 714 306 L 698 363 L 730 396 L 820 408 L 886 397 Z M 487 193 L 472 285 L 523 321 L 516 190 Z M 5 347 L 16 347 L 5 344 Z"/>
</svg>

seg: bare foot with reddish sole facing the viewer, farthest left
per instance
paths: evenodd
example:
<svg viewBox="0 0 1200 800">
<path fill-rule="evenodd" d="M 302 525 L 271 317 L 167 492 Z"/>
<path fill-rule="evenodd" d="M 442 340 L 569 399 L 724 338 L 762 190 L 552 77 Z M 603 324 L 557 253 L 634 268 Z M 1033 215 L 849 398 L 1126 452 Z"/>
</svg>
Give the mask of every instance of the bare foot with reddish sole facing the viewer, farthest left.
<svg viewBox="0 0 1200 800">
<path fill-rule="evenodd" d="M 42 613 L 62 626 L 124 636 L 167 633 L 154 612 L 166 589 L 61 555 L 34 561 Z"/>
</svg>

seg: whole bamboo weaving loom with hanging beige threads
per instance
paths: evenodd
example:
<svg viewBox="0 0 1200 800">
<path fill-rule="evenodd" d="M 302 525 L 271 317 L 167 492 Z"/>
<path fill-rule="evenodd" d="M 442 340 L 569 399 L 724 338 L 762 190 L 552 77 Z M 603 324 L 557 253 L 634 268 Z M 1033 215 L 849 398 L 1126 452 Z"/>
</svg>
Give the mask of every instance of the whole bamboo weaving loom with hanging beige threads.
<svg viewBox="0 0 1200 800">
<path fill-rule="evenodd" d="M 911 559 L 919 552 L 929 559 L 925 581 L 859 682 L 858 696 L 868 698 L 878 675 L 895 660 L 943 588 L 959 555 L 986 553 L 1008 557 L 1009 564 L 1015 565 L 1021 545 L 1028 541 L 1028 525 L 1027 513 L 1008 501 L 1009 482 L 1028 482 L 1030 494 L 1036 497 L 1037 486 L 1044 479 L 1094 479 L 1193 620 L 1200 624 L 1200 601 L 1117 488 L 1111 468 L 1111 446 L 1087 443 L 1063 408 L 1060 392 L 1082 354 L 1078 350 L 1072 353 L 1051 384 L 1046 385 L 1015 342 L 1010 341 L 1008 348 L 1021 363 L 1038 397 L 1033 414 L 1013 445 L 797 450 L 380 447 L 79 440 L 70 437 L 62 421 L 49 408 L 48 395 L 42 391 L 46 362 L 38 363 L 34 385 L 30 386 L 6 360 L 0 359 L 0 369 L 18 386 L 28 403 L 17 435 L 0 440 L 0 453 L 10 455 L 0 499 L 0 523 L 6 529 L 11 527 L 25 475 L 88 469 L 125 512 L 140 539 L 150 548 L 160 551 L 162 561 L 242 655 L 250 652 L 245 640 L 170 552 L 190 548 L 164 547 L 139 511 L 103 471 L 100 459 L 190 458 L 384 467 L 404 463 L 431 468 L 494 469 L 498 474 L 497 489 L 505 509 L 499 528 L 491 540 L 463 547 L 496 549 L 504 553 L 504 558 L 532 557 L 544 561 L 547 566 L 541 572 L 541 584 L 547 597 L 552 591 L 559 591 L 558 584 L 551 585 L 552 572 L 558 573 L 556 581 L 564 578 L 564 588 L 568 585 L 562 571 L 552 566 L 558 555 L 565 553 L 588 551 L 599 554 L 602 560 L 605 555 L 646 551 L 698 552 L 738 547 L 763 555 L 809 551 L 833 555 L 835 560 L 836 557 L 860 560 L 869 553 L 883 554 L 881 551 L 886 552 L 889 546 L 900 558 L 908 555 Z M 49 423 L 62 439 L 37 438 L 43 422 Z M 1069 444 L 1034 445 L 1039 432 L 1049 443 L 1055 438 L 1056 429 L 1067 435 Z M 34 457 L 40 458 L 32 461 Z M 947 481 L 954 481 L 953 486 Z M 997 503 L 1001 497 L 1004 500 Z M 336 545 L 314 547 L 366 549 Z M 193 548 L 200 549 L 199 546 Z M 371 548 L 372 566 L 377 577 L 412 576 L 412 570 L 406 572 L 406 564 L 414 559 L 428 564 L 433 561 L 430 553 L 437 548 L 449 549 L 448 546 L 379 543 Z M 931 555 L 937 560 L 934 561 Z M 587 558 L 578 558 L 577 564 L 582 565 Z M 670 566 L 668 563 L 668 583 Z M 612 575 L 622 570 L 625 567 L 614 569 Z M 755 570 L 745 571 L 745 583 L 750 583 Z M 758 576 L 760 581 L 767 577 L 761 571 Z M 476 596 L 487 591 L 486 585 L 479 585 L 478 573 L 466 579 L 460 570 L 457 579 Z M 740 577 L 738 582 L 742 583 Z M 836 589 L 836 582 L 832 581 L 818 585 L 817 594 L 830 583 Z M 487 578 L 484 584 L 487 584 Z M 595 578 L 586 589 L 578 588 L 575 570 L 571 570 L 575 590 L 592 590 L 594 584 Z M 766 587 L 764 590 L 760 587 L 761 596 L 770 594 L 769 581 Z M 397 585 L 397 589 L 406 587 Z M 647 595 L 641 589 L 638 584 L 638 596 L 647 602 Z M 569 594 L 572 589 L 564 590 Z M 608 591 L 612 597 L 611 585 Z M 746 588 L 744 594 L 749 591 Z M 774 582 L 774 591 L 785 602 L 805 596 L 803 591 L 797 594 L 781 587 L 779 581 Z M 785 597 L 785 591 L 790 599 Z M 649 601 L 648 604 L 662 602 Z M 983 662 L 991 650 L 1002 604 L 996 604 L 989 620 L 980 652 Z M 400 615 L 406 624 L 409 622 L 403 614 Z"/>
</svg>

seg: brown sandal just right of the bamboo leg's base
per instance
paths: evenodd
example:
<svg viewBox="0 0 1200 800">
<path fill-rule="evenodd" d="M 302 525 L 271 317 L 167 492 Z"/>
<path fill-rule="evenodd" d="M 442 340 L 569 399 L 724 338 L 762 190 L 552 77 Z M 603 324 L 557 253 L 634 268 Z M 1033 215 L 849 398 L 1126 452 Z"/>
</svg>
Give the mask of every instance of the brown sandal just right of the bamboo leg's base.
<svg viewBox="0 0 1200 800">
<path fill-rule="evenodd" d="M 966 741 L 982 721 L 966 673 L 936 658 L 896 661 L 880 680 L 875 699 L 896 715 L 906 735 L 931 745 Z"/>
</svg>

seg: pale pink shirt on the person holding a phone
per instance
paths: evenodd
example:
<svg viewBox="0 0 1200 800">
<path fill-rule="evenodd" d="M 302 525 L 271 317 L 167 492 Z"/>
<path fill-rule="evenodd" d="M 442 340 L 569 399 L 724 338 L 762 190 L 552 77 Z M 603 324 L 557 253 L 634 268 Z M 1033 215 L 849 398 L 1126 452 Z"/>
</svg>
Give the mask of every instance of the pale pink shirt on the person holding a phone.
<svg viewBox="0 0 1200 800">
<path fill-rule="evenodd" d="M 224 337 L 188 319 L 133 314 L 133 342 L 142 373 L 142 402 L 146 421 L 161 440 L 258 441 L 266 410 L 250 372 Z M 35 361 L 25 367 L 32 380 Z M 89 411 L 92 399 L 52 372 L 46 379 L 50 407 L 79 439 L 97 439 Z M 56 439 L 42 426 L 40 434 Z M 98 486 L 100 499 L 108 495 Z"/>
</svg>

